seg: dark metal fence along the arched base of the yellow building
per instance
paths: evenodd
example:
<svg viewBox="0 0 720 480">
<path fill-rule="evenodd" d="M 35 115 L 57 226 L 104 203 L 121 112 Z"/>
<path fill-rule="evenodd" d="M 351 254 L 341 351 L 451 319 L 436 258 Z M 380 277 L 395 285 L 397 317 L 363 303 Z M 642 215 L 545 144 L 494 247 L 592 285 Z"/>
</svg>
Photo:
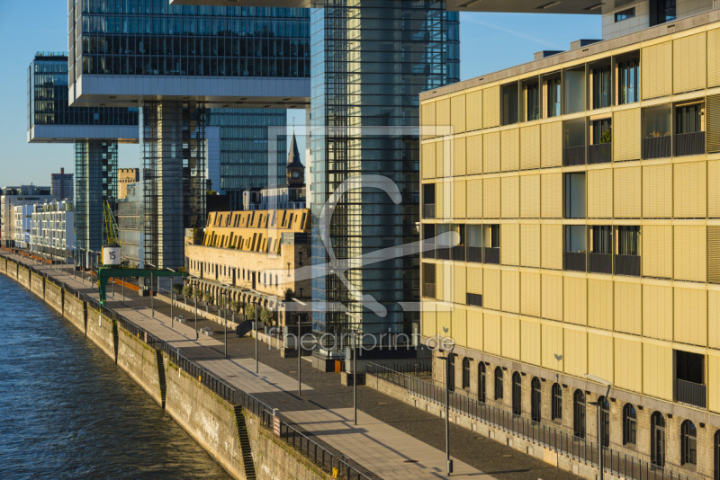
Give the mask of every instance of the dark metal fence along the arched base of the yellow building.
<svg viewBox="0 0 720 480">
<path fill-rule="evenodd" d="M 410 395 L 419 396 L 428 402 L 445 405 L 445 388 L 415 378 L 405 373 L 388 369 L 377 363 L 368 363 L 367 374 L 383 378 L 393 385 L 408 390 Z M 366 380 L 369 384 L 370 378 Z M 562 453 L 577 461 L 598 466 L 598 444 L 591 440 L 575 437 L 550 425 L 533 422 L 498 406 L 482 403 L 477 398 L 462 392 L 450 393 L 450 409 L 456 413 L 483 422 L 495 428 L 513 433 L 548 449 Z M 672 470 L 669 466 L 659 467 L 642 458 L 603 448 L 604 471 L 637 480 L 699 480 L 706 476 Z"/>
</svg>

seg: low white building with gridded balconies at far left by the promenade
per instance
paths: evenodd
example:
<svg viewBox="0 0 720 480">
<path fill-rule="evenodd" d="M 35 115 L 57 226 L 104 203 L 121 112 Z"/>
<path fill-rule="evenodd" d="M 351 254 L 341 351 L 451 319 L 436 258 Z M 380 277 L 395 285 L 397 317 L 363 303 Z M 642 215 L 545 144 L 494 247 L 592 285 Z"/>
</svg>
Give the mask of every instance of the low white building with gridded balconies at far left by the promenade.
<svg viewBox="0 0 720 480">
<path fill-rule="evenodd" d="M 18 205 L 14 208 L 15 245 L 36 253 L 67 258 L 75 248 L 75 208 L 71 201 Z"/>
</svg>

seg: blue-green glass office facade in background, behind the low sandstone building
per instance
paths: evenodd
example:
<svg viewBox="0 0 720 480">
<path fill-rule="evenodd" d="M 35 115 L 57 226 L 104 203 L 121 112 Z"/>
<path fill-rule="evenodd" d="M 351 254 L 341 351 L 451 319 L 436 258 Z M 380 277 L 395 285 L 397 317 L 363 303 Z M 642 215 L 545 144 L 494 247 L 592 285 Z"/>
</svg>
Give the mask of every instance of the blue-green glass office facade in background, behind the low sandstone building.
<svg viewBox="0 0 720 480">
<path fill-rule="evenodd" d="M 287 138 L 275 138 L 275 129 L 287 124 L 287 114 L 280 109 L 211 109 L 208 127 L 220 127 L 220 186 L 229 195 L 230 208 L 242 209 L 242 192 L 265 188 L 275 180 L 284 183 Z M 276 143 L 271 143 L 270 137 Z M 268 147 L 274 168 L 268 168 Z M 275 147 L 276 146 L 276 147 Z M 218 188 L 217 185 L 212 186 Z"/>
</svg>

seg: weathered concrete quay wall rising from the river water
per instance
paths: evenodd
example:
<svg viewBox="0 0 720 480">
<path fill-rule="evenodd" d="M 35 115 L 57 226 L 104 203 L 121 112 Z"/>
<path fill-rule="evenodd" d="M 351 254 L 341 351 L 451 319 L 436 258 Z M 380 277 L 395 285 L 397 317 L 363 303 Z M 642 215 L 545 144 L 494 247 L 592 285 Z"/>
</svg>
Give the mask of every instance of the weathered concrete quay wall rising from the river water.
<svg viewBox="0 0 720 480">
<path fill-rule="evenodd" d="M 198 378 L 179 369 L 165 353 L 158 352 L 112 319 L 64 289 L 57 280 L 46 280 L 18 263 L 0 257 L 0 273 L 18 281 L 85 333 L 108 357 L 142 387 L 158 405 L 206 449 L 230 476 L 247 480 L 243 466 L 235 405 L 217 396 Z M 158 365 L 158 357 L 162 363 Z M 158 368 L 159 367 L 159 368 Z M 163 395 L 165 393 L 165 395 Z M 293 478 L 330 480 L 284 440 L 268 431 L 261 420 L 244 410 L 247 438 L 258 480 Z"/>
</svg>

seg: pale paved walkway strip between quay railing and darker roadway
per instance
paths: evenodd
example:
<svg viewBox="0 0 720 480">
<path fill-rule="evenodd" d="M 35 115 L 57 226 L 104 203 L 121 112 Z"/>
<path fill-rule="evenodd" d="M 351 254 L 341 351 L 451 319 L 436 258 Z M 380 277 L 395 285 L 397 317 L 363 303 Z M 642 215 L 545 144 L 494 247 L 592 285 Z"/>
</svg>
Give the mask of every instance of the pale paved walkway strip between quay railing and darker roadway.
<svg viewBox="0 0 720 480">
<path fill-rule="evenodd" d="M 14 260 L 21 260 L 16 255 L 13 257 Z M 66 282 L 72 288 L 97 298 L 96 289 L 93 289 L 87 281 L 76 280 L 71 273 L 58 273 L 49 266 L 39 268 L 50 276 Z M 158 338 L 181 348 L 185 357 L 197 361 L 230 385 L 280 409 L 302 429 L 328 442 L 377 476 L 414 479 L 445 477 L 444 451 L 362 411 L 358 412 L 358 425 L 355 426 L 353 409 L 340 404 L 337 399 L 304 384 L 302 397 L 296 396 L 296 379 L 265 363 L 260 364 L 259 374 L 256 374 L 254 359 L 224 358 L 220 353 L 223 348 L 222 342 L 204 335 L 200 335 L 199 340 L 196 341 L 192 324 L 175 322 L 174 328 L 171 328 L 169 316 L 159 311 L 154 317 L 151 316 L 148 303 L 137 296 L 126 297 L 125 302 L 121 302 L 120 292 L 116 291 L 115 298 L 109 298 L 108 307 Z M 437 435 L 443 435 L 443 431 L 437 431 Z M 458 460 L 455 460 L 453 477 L 493 478 Z"/>
</svg>

